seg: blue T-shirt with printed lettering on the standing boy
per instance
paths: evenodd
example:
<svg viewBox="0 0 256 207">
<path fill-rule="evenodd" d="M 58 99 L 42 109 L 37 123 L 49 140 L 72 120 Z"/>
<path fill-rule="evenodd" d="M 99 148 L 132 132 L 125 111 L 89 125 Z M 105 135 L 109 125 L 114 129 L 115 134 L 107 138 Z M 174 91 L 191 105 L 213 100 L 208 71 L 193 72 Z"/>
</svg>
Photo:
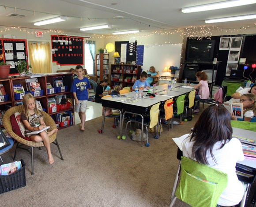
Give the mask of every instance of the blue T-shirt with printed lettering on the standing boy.
<svg viewBox="0 0 256 207">
<path fill-rule="evenodd" d="M 87 89 L 90 89 L 88 78 L 83 77 L 82 80 L 75 78 L 72 82 L 70 92 L 75 92 L 78 100 L 88 100 Z"/>
</svg>

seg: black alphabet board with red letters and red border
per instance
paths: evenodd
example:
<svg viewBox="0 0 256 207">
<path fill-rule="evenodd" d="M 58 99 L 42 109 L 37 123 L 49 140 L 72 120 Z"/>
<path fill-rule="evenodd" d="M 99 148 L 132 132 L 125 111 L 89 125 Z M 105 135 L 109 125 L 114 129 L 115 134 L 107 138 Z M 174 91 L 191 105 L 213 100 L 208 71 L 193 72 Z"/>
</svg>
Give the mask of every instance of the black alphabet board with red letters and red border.
<svg viewBox="0 0 256 207">
<path fill-rule="evenodd" d="M 83 37 L 51 35 L 51 42 L 57 65 L 83 65 Z"/>
</svg>

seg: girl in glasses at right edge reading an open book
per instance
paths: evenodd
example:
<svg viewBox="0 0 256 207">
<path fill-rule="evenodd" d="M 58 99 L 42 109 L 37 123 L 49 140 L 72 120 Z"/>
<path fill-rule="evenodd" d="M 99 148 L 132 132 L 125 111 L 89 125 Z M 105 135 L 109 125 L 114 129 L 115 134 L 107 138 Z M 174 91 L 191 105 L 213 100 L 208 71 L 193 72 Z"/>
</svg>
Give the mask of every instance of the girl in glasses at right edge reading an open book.
<svg viewBox="0 0 256 207">
<path fill-rule="evenodd" d="M 252 93 L 246 93 L 240 97 L 240 103 L 243 104 L 243 120 L 237 119 L 234 113 L 232 113 L 232 120 L 246 121 L 246 122 L 256 122 L 256 96 Z"/>
</svg>

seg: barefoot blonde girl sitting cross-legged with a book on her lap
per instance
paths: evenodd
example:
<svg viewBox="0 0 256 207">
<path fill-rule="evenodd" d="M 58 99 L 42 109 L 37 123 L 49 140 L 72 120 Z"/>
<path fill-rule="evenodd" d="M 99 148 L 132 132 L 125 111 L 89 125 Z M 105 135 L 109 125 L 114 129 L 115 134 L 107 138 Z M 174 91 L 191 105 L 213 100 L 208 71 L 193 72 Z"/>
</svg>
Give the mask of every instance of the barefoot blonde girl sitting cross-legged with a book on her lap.
<svg viewBox="0 0 256 207">
<path fill-rule="evenodd" d="M 35 97 L 30 93 L 27 93 L 23 97 L 23 107 L 24 107 L 24 111 L 21 115 L 21 120 L 26 127 L 25 133 L 38 131 L 46 127 L 42 117 L 42 112 L 38 110 L 38 107 L 36 106 Z M 53 155 L 50 148 L 49 136 L 51 136 L 53 133 L 56 133 L 57 131 L 58 129 L 53 129 L 49 133 L 47 133 L 46 131 L 42 131 L 38 134 L 30 136 L 30 139 L 32 141 L 34 142 L 42 141 L 44 143 L 50 164 L 53 164 L 54 160 L 53 160 Z"/>
</svg>

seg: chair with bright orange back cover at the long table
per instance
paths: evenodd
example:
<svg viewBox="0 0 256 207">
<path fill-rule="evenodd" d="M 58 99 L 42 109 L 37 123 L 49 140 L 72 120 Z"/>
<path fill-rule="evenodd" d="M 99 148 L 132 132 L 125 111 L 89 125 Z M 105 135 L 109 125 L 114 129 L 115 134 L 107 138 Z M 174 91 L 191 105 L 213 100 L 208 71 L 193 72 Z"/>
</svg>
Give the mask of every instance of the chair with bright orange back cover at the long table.
<svg viewBox="0 0 256 207">
<path fill-rule="evenodd" d="M 173 129 L 173 99 L 166 100 L 164 104 L 164 111 L 160 110 L 160 115 L 159 115 L 159 137 L 161 136 L 161 127 L 162 127 L 162 122 L 161 120 L 164 119 L 167 121 L 168 124 L 168 131 L 170 130 L 170 124 L 171 124 L 171 129 Z M 171 123 L 170 123 L 171 122 Z"/>
</svg>

